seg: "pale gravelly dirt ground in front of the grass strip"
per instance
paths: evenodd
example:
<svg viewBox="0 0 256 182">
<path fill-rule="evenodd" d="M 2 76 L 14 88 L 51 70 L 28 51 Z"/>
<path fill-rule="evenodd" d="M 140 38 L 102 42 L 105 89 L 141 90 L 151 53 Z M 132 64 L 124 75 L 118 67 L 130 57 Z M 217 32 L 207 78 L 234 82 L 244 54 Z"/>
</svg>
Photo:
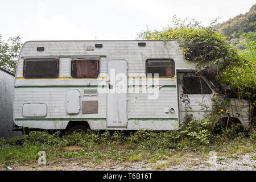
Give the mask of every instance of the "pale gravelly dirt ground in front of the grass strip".
<svg viewBox="0 0 256 182">
<path fill-rule="evenodd" d="M 79 159 L 57 159 L 53 162 L 47 162 L 46 165 L 38 163 L 30 164 L 13 164 L 10 166 L 1 165 L 0 170 L 14 171 L 92 171 L 92 170 L 117 170 L 117 171 L 141 171 L 141 170 L 232 170 L 232 171 L 256 171 L 256 153 L 248 153 L 240 156 L 226 158 L 217 156 L 217 158 L 209 158 L 205 156 L 184 155 L 180 158 L 168 157 L 164 160 L 156 160 L 148 162 L 148 160 L 140 160 L 138 162 L 113 162 L 101 161 L 100 163 L 88 162 Z M 216 160 L 214 160 L 216 159 Z"/>
</svg>

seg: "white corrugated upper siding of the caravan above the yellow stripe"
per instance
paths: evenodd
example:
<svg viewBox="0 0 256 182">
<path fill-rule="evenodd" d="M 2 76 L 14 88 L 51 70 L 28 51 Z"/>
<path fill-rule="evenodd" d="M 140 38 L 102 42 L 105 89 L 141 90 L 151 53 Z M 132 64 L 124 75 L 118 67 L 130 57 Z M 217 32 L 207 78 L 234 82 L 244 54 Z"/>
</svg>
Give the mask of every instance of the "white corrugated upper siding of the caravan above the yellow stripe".
<svg viewBox="0 0 256 182">
<path fill-rule="evenodd" d="M 185 63 L 182 50 L 177 41 L 170 41 L 167 45 L 163 41 L 146 41 L 146 47 L 139 47 L 141 41 L 106 41 L 102 48 L 86 51 L 86 46 L 94 46 L 97 41 L 62 41 L 62 42 L 27 42 L 24 44 L 20 57 L 30 56 L 62 56 L 60 62 L 60 77 L 70 76 L 71 58 L 63 56 L 106 55 L 101 57 L 100 72 L 106 73 L 106 61 L 110 59 L 125 59 L 128 63 L 128 73 L 145 73 L 145 60 L 150 58 L 172 58 L 176 69 L 195 68 Z M 36 47 L 44 47 L 43 52 L 36 51 Z M 18 62 L 17 77 L 22 77 L 23 59 Z"/>
</svg>

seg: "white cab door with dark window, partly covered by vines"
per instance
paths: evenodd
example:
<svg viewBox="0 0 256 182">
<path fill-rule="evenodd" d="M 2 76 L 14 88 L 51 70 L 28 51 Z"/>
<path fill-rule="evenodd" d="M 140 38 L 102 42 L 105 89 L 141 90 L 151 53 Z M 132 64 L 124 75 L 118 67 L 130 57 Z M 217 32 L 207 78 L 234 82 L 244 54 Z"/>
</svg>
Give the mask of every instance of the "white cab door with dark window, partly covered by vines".
<svg viewBox="0 0 256 182">
<path fill-rule="evenodd" d="M 210 117 L 213 89 L 205 78 L 192 73 L 178 73 L 179 117 L 181 122 L 189 115 L 193 119 Z"/>
</svg>

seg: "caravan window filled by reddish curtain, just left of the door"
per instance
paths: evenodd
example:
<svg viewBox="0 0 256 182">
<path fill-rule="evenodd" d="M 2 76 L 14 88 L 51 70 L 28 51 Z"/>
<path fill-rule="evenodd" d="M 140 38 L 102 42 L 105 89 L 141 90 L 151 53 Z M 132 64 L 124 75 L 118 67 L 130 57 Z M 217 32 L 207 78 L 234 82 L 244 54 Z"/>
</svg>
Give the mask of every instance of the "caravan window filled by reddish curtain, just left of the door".
<svg viewBox="0 0 256 182">
<path fill-rule="evenodd" d="M 99 73 L 98 58 L 72 59 L 71 75 L 72 77 L 98 77 Z"/>
</svg>

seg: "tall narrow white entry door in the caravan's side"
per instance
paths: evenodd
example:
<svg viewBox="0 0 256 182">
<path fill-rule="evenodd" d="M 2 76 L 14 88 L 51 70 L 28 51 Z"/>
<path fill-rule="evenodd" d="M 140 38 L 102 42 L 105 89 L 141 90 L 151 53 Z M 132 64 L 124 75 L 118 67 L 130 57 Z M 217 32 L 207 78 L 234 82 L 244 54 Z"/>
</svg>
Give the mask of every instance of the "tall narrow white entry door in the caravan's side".
<svg viewBox="0 0 256 182">
<path fill-rule="evenodd" d="M 127 62 L 108 62 L 107 127 L 127 127 Z"/>
</svg>

